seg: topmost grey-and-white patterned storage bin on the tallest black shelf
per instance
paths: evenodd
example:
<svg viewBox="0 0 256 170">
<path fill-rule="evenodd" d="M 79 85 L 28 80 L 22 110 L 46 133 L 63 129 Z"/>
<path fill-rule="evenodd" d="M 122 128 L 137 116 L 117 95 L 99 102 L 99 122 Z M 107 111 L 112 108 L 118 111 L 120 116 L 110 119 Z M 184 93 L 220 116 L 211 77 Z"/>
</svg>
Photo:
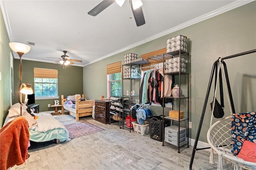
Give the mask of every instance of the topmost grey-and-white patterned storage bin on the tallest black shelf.
<svg viewBox="0 0 256 170">
<path fill-rule="evenodd" d="M 178 51 L 180 49 L 187 52 L 187 38 L 185 36 L 179 35 L 166 41 L 167 53 Z"/>
</svg>

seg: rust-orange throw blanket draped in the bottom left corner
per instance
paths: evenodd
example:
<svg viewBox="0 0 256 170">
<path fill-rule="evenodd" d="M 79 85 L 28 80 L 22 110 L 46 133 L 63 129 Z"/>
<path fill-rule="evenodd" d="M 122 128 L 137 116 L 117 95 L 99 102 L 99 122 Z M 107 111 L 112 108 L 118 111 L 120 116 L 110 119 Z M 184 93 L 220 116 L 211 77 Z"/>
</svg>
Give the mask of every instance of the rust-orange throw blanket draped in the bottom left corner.
<svg viewBox="0 0 256 170">
<path fill-rule="evenodd" d="M 16 117 L 0 129 L 0 170 L 25 162 L 29 131 L 25 117 Z"/>
</svg>

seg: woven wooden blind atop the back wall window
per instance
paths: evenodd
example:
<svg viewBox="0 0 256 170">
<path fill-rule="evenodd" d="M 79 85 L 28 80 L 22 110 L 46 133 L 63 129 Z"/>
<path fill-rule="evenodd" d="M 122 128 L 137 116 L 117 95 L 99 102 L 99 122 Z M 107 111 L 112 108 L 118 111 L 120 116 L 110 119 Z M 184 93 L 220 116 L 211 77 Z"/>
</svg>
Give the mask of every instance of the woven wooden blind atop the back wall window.
<svg viewBox="0 0 256 170">
<path fill-rule="evenodd" d="M 58 70 L 34 68 L 34 78 L 58 78 Z"/>
</svg>

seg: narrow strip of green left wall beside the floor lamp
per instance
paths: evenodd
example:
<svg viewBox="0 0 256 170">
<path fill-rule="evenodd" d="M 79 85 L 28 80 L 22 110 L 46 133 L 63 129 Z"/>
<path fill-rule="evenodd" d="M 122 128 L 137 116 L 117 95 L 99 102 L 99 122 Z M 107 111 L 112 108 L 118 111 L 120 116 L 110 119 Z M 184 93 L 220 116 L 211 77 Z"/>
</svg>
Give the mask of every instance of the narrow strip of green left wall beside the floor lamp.
<svg viewBox="0 0 256 170">
<path fill-rule="evenodd" d="M 4 24 L 2 10 L 0 9 L 0 72 L 2 80 L 0 81 L 0 127 L 11 105 L 11 83 L 10 83 L 10 40 Z"/>
</svg>

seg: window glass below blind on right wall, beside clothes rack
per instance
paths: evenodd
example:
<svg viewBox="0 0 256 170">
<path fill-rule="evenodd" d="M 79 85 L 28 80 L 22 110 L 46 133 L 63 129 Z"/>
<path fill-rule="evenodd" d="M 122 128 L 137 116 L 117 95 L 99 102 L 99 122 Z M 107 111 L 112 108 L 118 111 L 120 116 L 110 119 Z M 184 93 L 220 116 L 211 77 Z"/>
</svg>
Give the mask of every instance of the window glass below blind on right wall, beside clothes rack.
<svg viewBox="0 0 256 170">
<path fill-rule="evenodd" d="M 109 75 L 110 96 L 122 96 L 122 77 L 121 73 Z"/>
</svg>

